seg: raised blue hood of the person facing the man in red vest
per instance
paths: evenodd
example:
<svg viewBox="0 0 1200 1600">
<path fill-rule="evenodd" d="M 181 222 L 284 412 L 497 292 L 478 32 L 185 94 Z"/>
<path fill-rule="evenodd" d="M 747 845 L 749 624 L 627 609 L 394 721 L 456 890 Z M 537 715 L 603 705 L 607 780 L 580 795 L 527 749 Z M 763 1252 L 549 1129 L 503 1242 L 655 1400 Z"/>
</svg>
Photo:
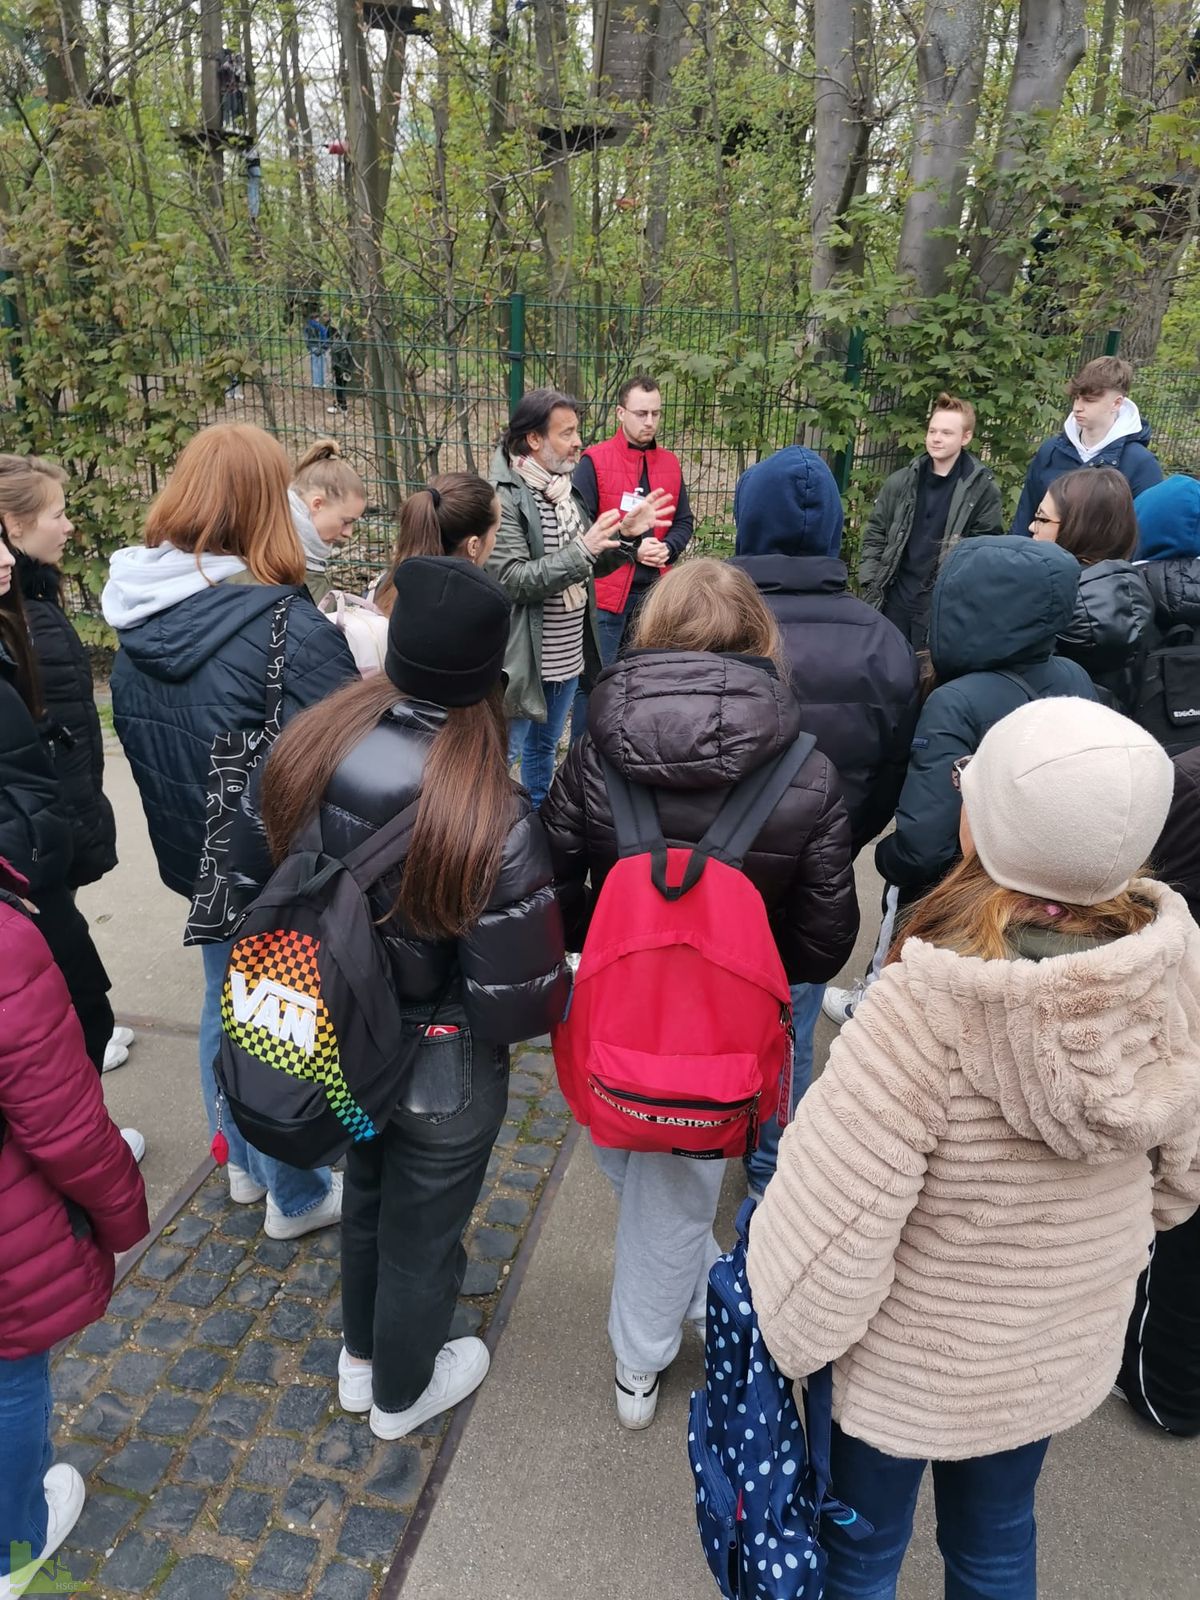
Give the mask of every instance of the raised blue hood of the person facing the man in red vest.
<svg viewBox="0 0 1200 1600">
<path fill-rule="evenodd" d="M 842 496 L 821 456 L 802 445 L 776 450 L 733 491 L 738 555 L 837 555 Z"/>
</svg>

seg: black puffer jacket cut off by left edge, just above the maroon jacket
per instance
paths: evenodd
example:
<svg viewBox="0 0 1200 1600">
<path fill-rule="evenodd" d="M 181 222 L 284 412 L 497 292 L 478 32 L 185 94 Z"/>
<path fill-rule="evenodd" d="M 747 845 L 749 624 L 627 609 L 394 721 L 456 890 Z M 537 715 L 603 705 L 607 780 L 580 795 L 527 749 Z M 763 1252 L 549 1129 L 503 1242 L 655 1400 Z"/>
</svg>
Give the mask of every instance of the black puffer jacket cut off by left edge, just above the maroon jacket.
<svg viewBox="0 0 1200 1600">
<path fill-rule="evenodd" d="M 0 645 L 0 856 L 29 878 L 38 899 L 70 874 L 72 830 L 46 741 L 16 686 L 16 662 Z"/>
</svg>

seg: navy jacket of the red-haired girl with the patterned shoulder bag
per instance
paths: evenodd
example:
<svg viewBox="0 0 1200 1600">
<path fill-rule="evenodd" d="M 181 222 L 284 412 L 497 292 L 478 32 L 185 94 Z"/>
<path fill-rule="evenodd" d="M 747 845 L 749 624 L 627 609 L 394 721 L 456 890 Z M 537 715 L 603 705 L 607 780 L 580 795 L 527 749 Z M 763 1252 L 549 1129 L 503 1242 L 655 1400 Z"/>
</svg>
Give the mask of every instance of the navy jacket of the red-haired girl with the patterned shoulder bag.
<svg viewBox="0 0 1200 1600">
<path fill-rule="evenodd" d="M 118 627 L 112 720 L 158 874 L 179 894 L 192 894 L 200 866 L 213 739 L 261 728 L 266 718 L 270 613 L 285 594 L 296 595 L 283 667 L 286 722 L 358 675 L 344 635 L 304 589 L 218 582 Z"/>
</svg>

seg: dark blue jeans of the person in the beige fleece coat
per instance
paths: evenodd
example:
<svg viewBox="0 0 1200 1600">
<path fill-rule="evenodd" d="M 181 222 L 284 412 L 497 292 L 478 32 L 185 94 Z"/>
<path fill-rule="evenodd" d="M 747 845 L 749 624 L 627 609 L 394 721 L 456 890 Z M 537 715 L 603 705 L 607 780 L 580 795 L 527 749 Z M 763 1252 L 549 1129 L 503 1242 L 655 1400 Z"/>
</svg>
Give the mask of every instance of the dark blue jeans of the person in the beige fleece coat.
<svg viewBox="0 0 1200 1600">
<path fill-rule="evenodd" d="M 933 1462 L 946 1600 L 1037 1600 L 1034 1490 L 1048 1446 L 1040 1438 L 997 1456 Z M 894 1600 L 923 1475 L 923 1461 L 885 1456 L 834 1424 L 830 1486 L 875 1531 L 854 1542 L 821 1523 L 826 1600 Z"/>
</svg>

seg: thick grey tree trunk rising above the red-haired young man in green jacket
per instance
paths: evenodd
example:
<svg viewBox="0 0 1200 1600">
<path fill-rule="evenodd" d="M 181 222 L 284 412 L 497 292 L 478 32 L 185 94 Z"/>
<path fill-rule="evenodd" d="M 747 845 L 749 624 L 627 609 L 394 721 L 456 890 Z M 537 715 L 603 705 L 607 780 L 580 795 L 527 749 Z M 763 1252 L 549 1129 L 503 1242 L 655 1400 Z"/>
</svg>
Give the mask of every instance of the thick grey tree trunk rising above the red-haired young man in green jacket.
<svg viewBox="0 0 1200 1600">
<path fill-rule="evenodd" d="M 942 288 L 958 250 L 986 45 L 984 0 L 930 0 L 917 42 L 910 194 L 896 253 L 920 296 Z"/>
</svg>

